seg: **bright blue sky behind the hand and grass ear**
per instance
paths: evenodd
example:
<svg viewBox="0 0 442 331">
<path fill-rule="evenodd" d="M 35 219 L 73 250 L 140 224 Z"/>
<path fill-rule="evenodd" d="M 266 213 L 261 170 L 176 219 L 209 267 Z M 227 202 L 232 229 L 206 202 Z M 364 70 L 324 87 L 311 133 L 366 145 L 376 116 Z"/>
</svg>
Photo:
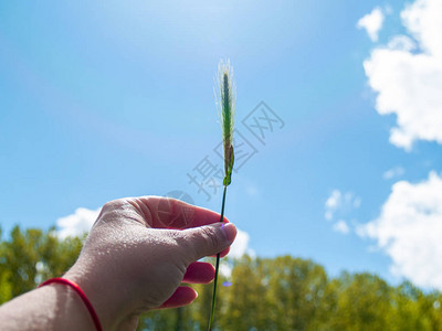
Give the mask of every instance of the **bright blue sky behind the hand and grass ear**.
<svg viewBox="0 0 442 331">
<path fill-rule="evenodd" d="M 357 28 L 375 8 L 383 18 L 378 41 Z M 207 156 L 222 164 L 213 151 L 221 139 L 213 78 L 220 58 L 230 58 L 236 129 L 257 152 L 233 175 L 227 215 L 249 234 L 249 247 L 312 258 L 332 275 L 371 271 L 442 286 L 413 278 L 379 231 L 364 229 L 386 220 L 394 182 L 414 188 L 431 171 L 439 179 L 442 166 L 441 139 L 422 134 L 428 127 L 404 125 L 411 147 L 391 142 L 398 118 L 419 107 L 388 104 L 396 81 L 379 85 L 380 72 L 364 66 L 371 58 L 380 67 L 371 54 L 394 53 L 387 45 L 399 34 L 417 44 L 399 51 L 441 63 L 403 22 L 404 9 L 404 1 L 2 2 L 1 227 L 48 228 L 78 207 L 171 191 L 219 211 L 220 192 L 208 201 L 188 173 Z M 261 102 L 284 121 L 265 145 L 241 122 Z"/>
</svg>

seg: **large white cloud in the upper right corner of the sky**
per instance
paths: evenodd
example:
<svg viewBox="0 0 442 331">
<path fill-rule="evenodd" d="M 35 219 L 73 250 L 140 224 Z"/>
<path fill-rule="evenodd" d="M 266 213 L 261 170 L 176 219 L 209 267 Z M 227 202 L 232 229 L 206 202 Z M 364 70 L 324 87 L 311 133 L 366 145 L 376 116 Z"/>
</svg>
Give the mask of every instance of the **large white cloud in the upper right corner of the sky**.
<svg viewBox="0 0 442 331">
<path fill-rule="evenodd" d="M 415 140 L 442 143 L 442 1 L 418 0 L 401 12 L 410 36 L 394 35 L 364 62 L 377 92 L 376 109 L 394 114 L 390 142 L 411 150 Z M 419 52 L 414 50 L 418 47 Z"/>
</svg>

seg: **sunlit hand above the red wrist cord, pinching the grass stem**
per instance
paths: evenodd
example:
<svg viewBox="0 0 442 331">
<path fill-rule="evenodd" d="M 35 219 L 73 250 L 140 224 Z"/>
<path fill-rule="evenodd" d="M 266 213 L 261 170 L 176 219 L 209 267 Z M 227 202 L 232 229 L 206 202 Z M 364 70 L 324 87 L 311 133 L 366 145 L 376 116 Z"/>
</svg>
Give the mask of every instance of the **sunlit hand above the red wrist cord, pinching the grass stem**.
<svg viewBox="0 0 442 331">
<path fill-rule="evenodd" d="M 213 280 L 198 259 L 225 255 L 236 228 L 218 213 L 173 199 L 146 196 L 106 203 L 75 265 L 64 276 L 85 291 L 105 330 L 134 330 L 140 313 L 189 305 L 181 282 Z"/>
</svg>

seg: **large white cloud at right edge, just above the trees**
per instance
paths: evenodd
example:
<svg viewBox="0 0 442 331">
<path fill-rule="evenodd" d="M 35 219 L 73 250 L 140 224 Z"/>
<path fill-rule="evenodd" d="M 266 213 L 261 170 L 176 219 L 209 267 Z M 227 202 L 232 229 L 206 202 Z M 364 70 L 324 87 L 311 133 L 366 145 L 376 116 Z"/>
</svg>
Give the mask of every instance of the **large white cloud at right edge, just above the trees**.
<svg viewBox="0 0 442 331">
<path fill-rule="evenodd" d="M 442 178 L 431 172 L 421 183 L 400 181 L 380 216 L 360 226 L 391 257 L 391 271 L 415 285 L 442 290 Z"/>
</svg>

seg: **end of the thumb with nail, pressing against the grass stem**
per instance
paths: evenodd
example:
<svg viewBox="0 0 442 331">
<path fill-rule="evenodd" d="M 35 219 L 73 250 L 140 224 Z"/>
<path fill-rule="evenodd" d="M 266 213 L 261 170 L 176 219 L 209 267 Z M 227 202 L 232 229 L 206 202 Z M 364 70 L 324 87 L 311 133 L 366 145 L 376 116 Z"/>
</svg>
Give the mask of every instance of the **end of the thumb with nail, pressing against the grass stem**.
<svg viewBox="0 0 442 331">
<path fill-rule="evenodd" d="M 204 256 L 215 255 L 230 245 L 236 236 L 236 227 L 232 223 L 213 223 L 199 227 L 191 227 L 181 232 L 189 246 L 188 252 L 193 260 Z"/>
</svg>

